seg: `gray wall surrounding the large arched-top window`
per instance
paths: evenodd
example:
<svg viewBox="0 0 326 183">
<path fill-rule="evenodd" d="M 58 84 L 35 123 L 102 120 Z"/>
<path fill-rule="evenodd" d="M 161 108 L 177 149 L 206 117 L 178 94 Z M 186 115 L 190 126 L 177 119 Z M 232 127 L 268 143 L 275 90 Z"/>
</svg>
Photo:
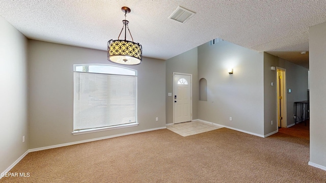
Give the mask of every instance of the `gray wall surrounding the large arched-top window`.
<svg viewBox="0 0 326 183">
<path fill-rule="evenodd" d="M 30 148 L 142 131 L 166 126 L 164 60 L 143 57 L 138 70 L 137 127 L 72 135 L 73 64 L 113 64 L 106 51 L 30 40 Z M 158 121 L 155 121 L 158 117 Z"/>
</svg>

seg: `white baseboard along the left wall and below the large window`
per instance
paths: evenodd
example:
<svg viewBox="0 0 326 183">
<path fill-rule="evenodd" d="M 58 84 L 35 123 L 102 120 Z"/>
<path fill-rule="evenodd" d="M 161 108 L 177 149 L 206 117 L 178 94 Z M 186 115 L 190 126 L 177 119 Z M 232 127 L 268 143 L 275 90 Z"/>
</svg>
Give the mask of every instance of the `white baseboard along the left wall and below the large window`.
<svg viewBox="0 0 326 183">
<path fill-rule="evenodd" d="M 85 143 L 85 142 L 92 142 L 92 141 L 97 141 L 97 140 L 109 139 L 109 138 L 120 137 L 120 136 L 124 136 L 124 135 L 131 135 L 131 134 L 149 132 L 149 131 L 166 129 L 166 128 L 167 127 L 159 127 L 159 128 L 154 128 L 154 129 L 140 130 L 140 131 L 129 132 L 129 133 L 124 133 L 124 134 L 117 134 L 117 135 L 111 135 L 111 136 L 106 136 L 106 137 L 100 137 L 100 138 L 94 138 L 94 139 L 88 139 L 88 140 L 81 140 L 81 141 L 76 141 L 76 142 L 69 142 L 69 143 L 64 143 L 64 144 L 50 145 L 50 146 L 46 146 L 46 147 L 39 147 L 39 148 L 29 149 L 23 155 L 21 155 L 12 165 L 10 165 L 10 167 L 8 167 L 4 172 L 2 172 L 2 174 L 3 173 L 8 173 L 26 155 L 28 155 L 29 153 L 35 152 L 35 151 L 45 150 L 45 149 L 51 149 L 51 148 L 57 148 L 57 147 L 64 147 L 64 146 L 68 146 L 68 145 L 80 144 L 80 143 Z M 1 178 L 2 178 L 2 176 L 0 176 L 0 179 Z"/>
</svg>

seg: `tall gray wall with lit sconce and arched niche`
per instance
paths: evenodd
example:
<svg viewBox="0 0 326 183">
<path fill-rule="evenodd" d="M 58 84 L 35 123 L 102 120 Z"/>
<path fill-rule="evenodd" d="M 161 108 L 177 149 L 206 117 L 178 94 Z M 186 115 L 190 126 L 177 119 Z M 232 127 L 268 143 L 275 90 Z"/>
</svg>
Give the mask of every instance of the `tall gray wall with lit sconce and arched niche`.
<svg viewBox="0 0 326 183">
<path fill-rule="evenodd" d="M 207 80 L 208 95 L 198 103 L 198 118 L 263 135 L 263 63 L 263 53 L 227 41 L 199 46 L 198 78 Z"/>
</svg>

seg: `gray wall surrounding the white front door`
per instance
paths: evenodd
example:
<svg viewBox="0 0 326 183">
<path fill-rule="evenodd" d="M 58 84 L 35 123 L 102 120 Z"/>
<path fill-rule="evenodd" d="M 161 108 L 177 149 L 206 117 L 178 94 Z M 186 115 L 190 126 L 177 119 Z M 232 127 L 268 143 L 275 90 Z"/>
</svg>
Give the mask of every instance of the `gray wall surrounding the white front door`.
<svg viewBox="0 0 326 183">
<path fill-rule="evenodd" d="M 197 71 L 197 48 L 186 51 L 180 55 L 166 60 L 166 111 L 167 124 L 173 123 L 173 98 L 168 93 L 173 92 L 173 72 L 193 75 L 193 119 L 197 119 L 197 104 L 199 100 L 198 71 Z"/>
</svg>

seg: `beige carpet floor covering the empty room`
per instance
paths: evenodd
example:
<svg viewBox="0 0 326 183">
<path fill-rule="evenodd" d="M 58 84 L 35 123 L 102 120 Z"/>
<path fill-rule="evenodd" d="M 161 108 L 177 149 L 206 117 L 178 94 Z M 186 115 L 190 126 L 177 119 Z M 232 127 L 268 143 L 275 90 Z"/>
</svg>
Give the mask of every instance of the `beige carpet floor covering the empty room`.
<svg viewBox="0 0 326 183">
<path fill-rule="evenodd" d="M 326 182 L 308 165 L 309 140 L 221 128 L 182 137 L 170 130 L 37 151 L 0 182 Z"/>
</svg>

